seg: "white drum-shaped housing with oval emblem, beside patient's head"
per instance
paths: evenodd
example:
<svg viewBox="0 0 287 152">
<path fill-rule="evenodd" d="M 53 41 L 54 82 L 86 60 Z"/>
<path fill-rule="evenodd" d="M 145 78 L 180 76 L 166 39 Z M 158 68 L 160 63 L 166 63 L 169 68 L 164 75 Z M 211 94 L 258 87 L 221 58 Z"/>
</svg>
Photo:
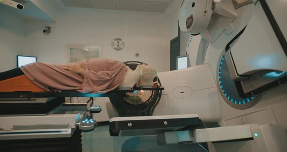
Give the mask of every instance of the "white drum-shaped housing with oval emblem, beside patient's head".
<svg viewBox="0 0 287 152">
<path fill-rule="evenodd" d="M 153 115 L 197 114 L 203 122 L 220 120 L 217 86 L 209 64 L 161 72 L 158 77 L 164 90 Z M 110 118 L 118 116 L 108 98 L 106 107 Z"/>
</svg>

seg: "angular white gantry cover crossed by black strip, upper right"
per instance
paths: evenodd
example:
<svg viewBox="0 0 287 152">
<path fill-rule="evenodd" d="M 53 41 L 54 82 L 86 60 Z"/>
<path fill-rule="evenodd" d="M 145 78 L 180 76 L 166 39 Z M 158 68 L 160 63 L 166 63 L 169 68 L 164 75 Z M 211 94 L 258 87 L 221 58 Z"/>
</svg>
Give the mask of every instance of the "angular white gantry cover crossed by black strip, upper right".
<svg viewBox="0 0 287 152">
<path fill-rule="evenodd" d="M 287 14 L 287 9 L 284 9 L 287 1 L 266 2 L 274 16 L 276 13 L 275 19 L 286 39 L 287 22 L 283 20 L 286 18 L 284 14 Z M 280 5 L 282 8 L 276 8 Z M 239 75 L 249 75 L 259 70 L 287 72 L 287 54 L 280 45 L 260 2 L 254 6 L 248 26 L 231 48 L 231 53 Z M 245 62 L 242 62 L 243 58 Z"/>
</svg>

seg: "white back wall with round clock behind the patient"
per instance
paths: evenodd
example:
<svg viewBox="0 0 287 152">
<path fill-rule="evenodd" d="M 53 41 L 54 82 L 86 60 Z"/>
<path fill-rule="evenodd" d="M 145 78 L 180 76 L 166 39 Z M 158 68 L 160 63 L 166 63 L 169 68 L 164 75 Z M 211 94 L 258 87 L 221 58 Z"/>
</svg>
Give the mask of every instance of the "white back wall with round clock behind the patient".
<svg viewBox="0 0 287 152">
<path fill-rule="evenodd" d="M 40 62 L 65 64 L 67 44 L 101 45 L 106 58 L 139 60 L 159 72 L 169 70 L 171 32 L 166 15 L 73 8 L 59 12 L 54 20 L 51 35 L 39 30 L 27 36 L 25 55 L 37 56 Z M 124 50 L 112 49 L 114 38 L 125 41 Z M 135 57 L 136 52 L 140 57 Z"/>
</svg>

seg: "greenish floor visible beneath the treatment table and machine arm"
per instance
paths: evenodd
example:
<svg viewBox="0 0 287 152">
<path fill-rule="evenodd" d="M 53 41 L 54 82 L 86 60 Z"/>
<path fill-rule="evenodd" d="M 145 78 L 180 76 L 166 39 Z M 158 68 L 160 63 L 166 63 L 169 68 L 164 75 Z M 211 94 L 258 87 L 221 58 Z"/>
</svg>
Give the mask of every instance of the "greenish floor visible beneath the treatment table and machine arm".
<svg viewBox="0 0 287 152">
<path fill-rule="evenodd" d="M 83 152 L 206 152 L 197 144 L 158 145 L 156 136 L 111 137 L 108 128 L 82 133 Z"/>
</svg>

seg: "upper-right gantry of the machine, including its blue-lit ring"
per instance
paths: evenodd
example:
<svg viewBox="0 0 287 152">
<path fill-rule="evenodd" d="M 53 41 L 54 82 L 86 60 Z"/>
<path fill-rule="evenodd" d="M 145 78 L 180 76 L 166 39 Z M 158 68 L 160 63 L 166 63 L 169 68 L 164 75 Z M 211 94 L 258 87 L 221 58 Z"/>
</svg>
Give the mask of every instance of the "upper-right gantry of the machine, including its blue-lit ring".
<svg viewBox="0 0 287 152">
<path fill-rule="evenodd" d="M 196 65 L 213 63 L 220 93 L 233 108 L 250 108 L 286 83 L 284 6 L 280 0 L 184 0 L 180 7 L 180 29 L 201 36 Z"/>
</svg>

